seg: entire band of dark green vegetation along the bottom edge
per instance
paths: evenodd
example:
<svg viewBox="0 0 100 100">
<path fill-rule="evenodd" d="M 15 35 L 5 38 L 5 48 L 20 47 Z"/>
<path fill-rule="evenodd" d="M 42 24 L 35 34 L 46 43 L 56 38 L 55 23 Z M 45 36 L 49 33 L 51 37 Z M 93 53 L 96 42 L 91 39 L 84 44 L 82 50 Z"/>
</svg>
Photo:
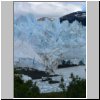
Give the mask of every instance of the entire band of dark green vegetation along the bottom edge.
<svg viewBox="0 0 100 100">
<path fill-rule="evenodd" d="M 70 75 L 72 81 L 66 89 L 63 77 L 59 87 L 62 92 L 40 93 L 36 83 L 31 80 L 24 82 L 21 74 L 14 74 L 14 97 L 15 98 L 85 98 L 86 97 L 86 80 L 78 76 Z M 51 79 L 49 81 L 52 81 Z"/>
</svg>

